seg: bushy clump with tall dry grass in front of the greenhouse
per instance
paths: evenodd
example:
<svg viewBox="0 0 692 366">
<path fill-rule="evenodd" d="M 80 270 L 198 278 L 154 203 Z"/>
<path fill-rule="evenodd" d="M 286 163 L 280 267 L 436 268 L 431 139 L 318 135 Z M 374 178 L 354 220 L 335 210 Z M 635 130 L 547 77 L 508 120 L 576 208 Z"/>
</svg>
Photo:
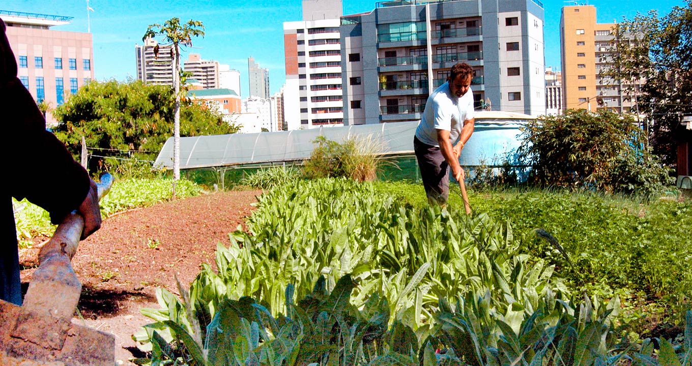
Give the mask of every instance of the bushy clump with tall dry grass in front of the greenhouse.
<svg viewBox="0 0 692 366">
<path fill-rule="evenodd" d="M 303 165 L 308 179 L 347 177 L 355 181 L 372 181 L 385 161 L 377 154 L 379 143 L 372 138 L 348 138 L 343 143 L 318 136 L 317 146 Z"/>
</svg>

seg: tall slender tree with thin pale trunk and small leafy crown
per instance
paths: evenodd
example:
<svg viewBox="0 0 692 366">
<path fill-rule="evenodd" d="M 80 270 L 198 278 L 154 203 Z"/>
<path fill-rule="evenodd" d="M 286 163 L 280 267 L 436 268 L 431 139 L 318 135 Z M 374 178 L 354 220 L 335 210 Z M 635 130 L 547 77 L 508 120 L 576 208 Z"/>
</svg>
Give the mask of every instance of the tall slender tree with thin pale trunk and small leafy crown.
<svg viewBox="0 0 692 366">
<path fill-rule="evenodd" d="M 142 41 L 147 38 L 156 38 L 162 35 L 165 45 L 173 46 L 173 88 L 175 90 L 174 103 L 174 127 L 173 127 L 173 178 L 180 179 L 180 48 L 181 46 L 192 46 L 192 37 L 204 37 L 204 26 L 201 21 L 190 20 L 188 23 L 181 24 L 180 18 L 171 18 L 163 26 L 152 24 L 144 33 Z"/>
</svg>

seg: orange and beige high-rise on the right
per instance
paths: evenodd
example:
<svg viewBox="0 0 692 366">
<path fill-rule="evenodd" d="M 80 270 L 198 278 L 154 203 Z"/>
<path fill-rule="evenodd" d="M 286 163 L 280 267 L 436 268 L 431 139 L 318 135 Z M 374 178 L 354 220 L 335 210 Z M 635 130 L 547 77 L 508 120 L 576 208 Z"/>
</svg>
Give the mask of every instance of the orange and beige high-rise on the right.
<svg viewBox="0 0 692 366">
<path fill-rule="evenodd" d="M 636 105 L 641 80 L 622 82 L 603 75 L 612 66 L 617 24 L 597 23 L 594 6 L 565 6 L 560 19 L 563 106 L 565 109 L 612 109 Z"/>
</svg>

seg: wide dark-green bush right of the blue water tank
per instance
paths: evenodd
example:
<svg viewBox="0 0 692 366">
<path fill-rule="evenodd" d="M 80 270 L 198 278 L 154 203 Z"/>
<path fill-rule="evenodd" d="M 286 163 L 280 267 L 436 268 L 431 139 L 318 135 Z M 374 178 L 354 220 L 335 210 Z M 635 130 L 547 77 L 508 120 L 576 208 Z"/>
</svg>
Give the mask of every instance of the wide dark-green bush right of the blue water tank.
<svg viewBox="0 0 692 366">
<path fill-rule="evenodd" d="M 631 116 L 567 110 L 531 120 L 522 139 L 519 154 L 539 185 L 650 195 L 671 183 Z"/>
</svg>

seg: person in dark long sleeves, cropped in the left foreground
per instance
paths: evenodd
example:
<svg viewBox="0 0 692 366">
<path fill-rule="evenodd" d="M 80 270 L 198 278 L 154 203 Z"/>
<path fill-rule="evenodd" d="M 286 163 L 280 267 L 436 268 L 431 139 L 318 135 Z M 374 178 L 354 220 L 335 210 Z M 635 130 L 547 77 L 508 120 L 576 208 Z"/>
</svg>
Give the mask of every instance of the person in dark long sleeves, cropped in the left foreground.
<svg viewBox="0 0 692 366">
<path fill-rule="evenodd" d="M 82 239 L 101 226 L 96 183 L 50 131 L 31 94 L 17 77 L 6 25 L 0 19 L 0 156 L 5 213 L 0 218 L 0 299 L 21 305 L 19 255 L 12 197 L 39 205 L 60 223 L 77 210 L 84 217 Z"/>
</svg>

